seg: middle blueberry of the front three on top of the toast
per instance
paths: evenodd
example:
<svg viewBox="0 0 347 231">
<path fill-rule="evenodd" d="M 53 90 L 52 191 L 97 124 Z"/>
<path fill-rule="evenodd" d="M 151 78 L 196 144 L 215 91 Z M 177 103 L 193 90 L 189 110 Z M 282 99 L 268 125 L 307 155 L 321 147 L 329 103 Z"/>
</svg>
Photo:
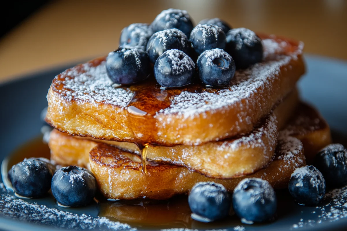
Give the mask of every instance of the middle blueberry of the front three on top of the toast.
<svg viewBox="0 0 347 231">
<path fill-rule="evenodd" d="M 193 60 L 183 51 L 168 50 L 155 61 L 154 77 L 162 87 L 182 87 L 192 82 Z"/>
</svg>

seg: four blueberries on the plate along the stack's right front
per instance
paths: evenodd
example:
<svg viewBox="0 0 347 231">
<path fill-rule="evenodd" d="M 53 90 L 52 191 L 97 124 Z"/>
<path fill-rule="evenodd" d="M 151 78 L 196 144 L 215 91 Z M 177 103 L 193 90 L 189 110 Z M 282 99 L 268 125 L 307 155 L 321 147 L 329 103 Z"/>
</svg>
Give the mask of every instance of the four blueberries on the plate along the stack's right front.
<svg viewBox="0 0 347 231">
<path fill-rule="evenodd" d="M 297 168 L 291 175 L 288 189 L 298 204 L 318 205 L 326 184 L 332 188 L 347 184 L 347 150 L 341 144 L 330 144 L 319 151 L 315 166 Z M 329 181 L 325 181 L 325 179 Z M 274 219 L 277 209 L 276 194 L 268 181 L 245 178 L 230 198 L 227 190 L 214 182 L 199 182 L 188 196 L 191 217 L 201 222 L 220 220 L 235 214 L 246 224 Z"/>
</svg>

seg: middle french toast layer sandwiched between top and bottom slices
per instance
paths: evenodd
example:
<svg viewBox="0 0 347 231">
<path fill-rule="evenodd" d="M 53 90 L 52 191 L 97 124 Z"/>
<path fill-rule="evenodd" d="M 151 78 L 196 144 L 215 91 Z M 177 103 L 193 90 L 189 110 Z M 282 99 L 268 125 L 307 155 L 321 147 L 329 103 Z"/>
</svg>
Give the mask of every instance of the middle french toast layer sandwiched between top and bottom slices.
<svg viewBox="0 0 347 231">
<path fill-rule="evenodd" d="M 214 178 L 231 178 L 250 174 L 273 159 L 277 145 L 277 124 L 283 127 L 298 104 L 298 92 L 294 89 L 274 110 L 274 116 L 265 118 L 254 131 L 223 141 L 211 141 L 200 145 L 153 146 L 147 149 L 147 159 L 185 166 Z M 87 167 L 89 151 L 99 142 L 105 142 L 139 154 L 134 143 L 86 139 L 53 130 L 49 146 L 51 159 L 60 165 Z"/>
</svg>

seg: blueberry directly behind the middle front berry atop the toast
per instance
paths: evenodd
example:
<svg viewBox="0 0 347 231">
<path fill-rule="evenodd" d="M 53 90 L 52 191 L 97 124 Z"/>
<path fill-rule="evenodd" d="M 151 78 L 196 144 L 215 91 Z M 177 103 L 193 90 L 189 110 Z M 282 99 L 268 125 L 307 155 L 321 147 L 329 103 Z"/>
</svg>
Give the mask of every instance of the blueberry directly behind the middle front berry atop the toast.
<svg viewBox="0 0 347 231">
<path fill-rule="evenodd" d="M 179 29 L 166 29 L 156 32 L 152 35 L 147 43 L 147 54 L 152 63 L 158 57 L 172 49 L 177 49 L 189 54 L 190 43 L 187 36 Z"/>
</svg>

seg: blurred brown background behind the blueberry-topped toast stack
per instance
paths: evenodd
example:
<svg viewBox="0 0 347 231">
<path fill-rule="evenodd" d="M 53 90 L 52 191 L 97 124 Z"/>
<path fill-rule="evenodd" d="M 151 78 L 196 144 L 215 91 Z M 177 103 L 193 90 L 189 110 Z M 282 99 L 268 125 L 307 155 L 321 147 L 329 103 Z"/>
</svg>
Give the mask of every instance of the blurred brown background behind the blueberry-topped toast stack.
<svg viewBox="0 0 347 231">
<path fill-rule="evenodd" d="M 168 8 L 195 23 L 219 17 L 233 28 L 301 40 L 306 53 L 347 60 L 347 0 L 32 0 L 1 7 L 0 83 L 84 62 L 118 47 L 121 29 L 151 23 Z"/>
</svg>

